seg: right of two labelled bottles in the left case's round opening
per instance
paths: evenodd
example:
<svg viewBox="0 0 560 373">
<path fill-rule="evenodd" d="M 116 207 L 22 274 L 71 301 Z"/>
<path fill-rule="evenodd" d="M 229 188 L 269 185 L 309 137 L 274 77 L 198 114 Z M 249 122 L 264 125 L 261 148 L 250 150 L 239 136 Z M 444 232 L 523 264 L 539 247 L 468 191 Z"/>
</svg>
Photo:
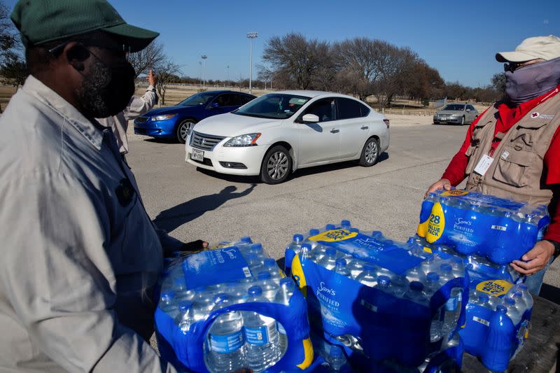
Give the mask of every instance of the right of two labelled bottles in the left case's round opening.
<svg viewBox="0 0 560 373">
<path fill-rule="evenodd" d="M 248 302 L 268 302 L 260 286 L 248 289 Z M 262 372 L 276 363 L 280 356 L 279 335 L 274 318 L 256 312 L 243 312 L 248 367 Z"/>
</svg>

